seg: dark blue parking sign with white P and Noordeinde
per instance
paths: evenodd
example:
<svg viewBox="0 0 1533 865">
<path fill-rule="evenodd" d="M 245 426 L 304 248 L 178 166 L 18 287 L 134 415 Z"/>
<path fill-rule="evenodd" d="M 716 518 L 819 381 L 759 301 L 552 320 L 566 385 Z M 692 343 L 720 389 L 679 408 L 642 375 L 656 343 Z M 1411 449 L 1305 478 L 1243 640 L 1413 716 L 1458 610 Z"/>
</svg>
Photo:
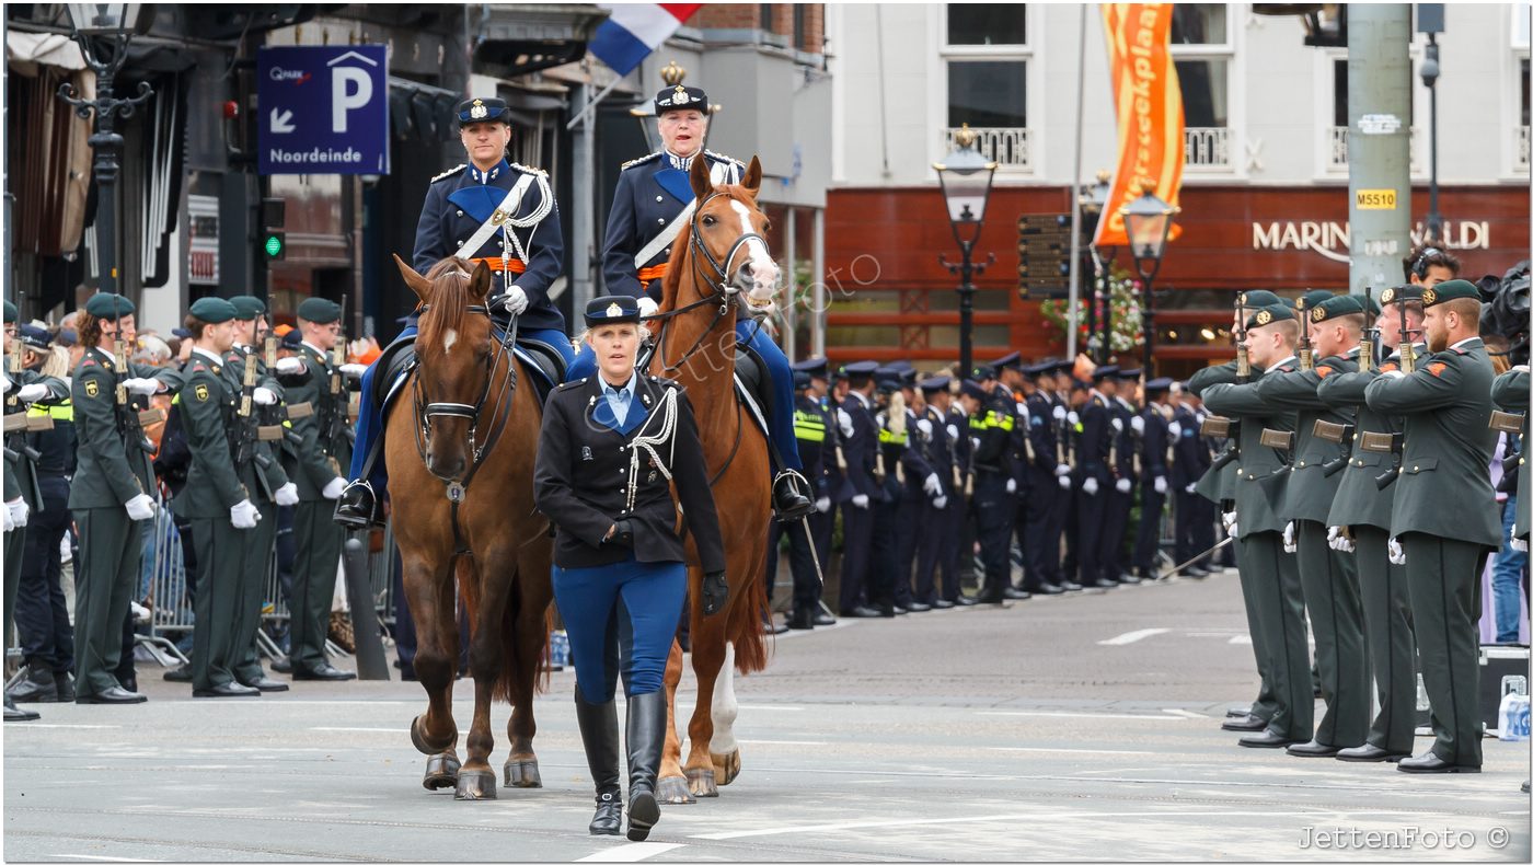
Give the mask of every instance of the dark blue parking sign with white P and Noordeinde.
<svg viewBox="0 0 1533 865">
<path fill-rule="evenodd" d="M 385 46 L 262 48 L 256 74 L 261 173 L 388 173 Z"/>
</svg>

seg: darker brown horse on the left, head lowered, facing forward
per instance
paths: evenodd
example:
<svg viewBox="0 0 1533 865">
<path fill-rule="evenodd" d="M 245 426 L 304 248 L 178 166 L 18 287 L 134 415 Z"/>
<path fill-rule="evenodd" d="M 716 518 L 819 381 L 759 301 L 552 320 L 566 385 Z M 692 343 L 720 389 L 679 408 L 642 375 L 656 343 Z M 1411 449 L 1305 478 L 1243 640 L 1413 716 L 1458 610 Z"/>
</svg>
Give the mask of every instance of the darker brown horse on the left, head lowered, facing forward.
<svg viewBox="0 0 1533 865">
<path fill-rule="evenodd" d="M 385 445 L 394 540 L 419 641 L 415 675 L 429 699 L 409 736 L 428 755 L 426 790 L 455 787 L 457 799 L 494 799 L 492 698 L 512 704 L 506 785 L 543 785 L 532 753 L 532 695 L 553 598 L 549 523 L 532 506 L 543 405 L 510 339 L 491 322 L 484 305 L 491 271 L 483 262 L 469 271 L 449 258 L 426 276 L 399 256 L 394 262 L 423 304 L 417 367 L 389 409 Z M 474 722 L 461 767 L 452 719 L 454 587 L 468 609 L 474 675 Z"/>
</svg>

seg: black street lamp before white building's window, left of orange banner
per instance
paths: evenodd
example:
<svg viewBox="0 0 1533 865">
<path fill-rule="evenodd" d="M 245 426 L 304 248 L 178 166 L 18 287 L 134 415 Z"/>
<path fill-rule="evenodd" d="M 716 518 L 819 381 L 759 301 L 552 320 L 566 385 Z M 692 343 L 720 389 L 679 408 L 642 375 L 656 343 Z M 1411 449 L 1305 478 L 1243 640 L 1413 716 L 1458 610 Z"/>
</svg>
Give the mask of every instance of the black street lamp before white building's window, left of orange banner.
<svg viewBox="0 0 1533 865">
<path fill-rule="evenodd" d="M 954 133 L 958 147 L 947 153 L 947 161 L 932 163 L 943 199 L 947 202 L 947 221 L 954 229 L 954 241 L 963 253 L 963 261 L 954 264 L 946 255 L 938 261 L 949 273 L 960 276 L 958 285 L 958 363 L 964 376 L 973 374 L 973 278 L 995 264 L 995 253 L 983 262 L 973 261 L 973 247 L 980 242 L 984 224 L 984 206 L 990 201 L 990 181 L 995 179 L 995 163 L 973 149 L 975 132 L 969 124 Z"/>
</svg>

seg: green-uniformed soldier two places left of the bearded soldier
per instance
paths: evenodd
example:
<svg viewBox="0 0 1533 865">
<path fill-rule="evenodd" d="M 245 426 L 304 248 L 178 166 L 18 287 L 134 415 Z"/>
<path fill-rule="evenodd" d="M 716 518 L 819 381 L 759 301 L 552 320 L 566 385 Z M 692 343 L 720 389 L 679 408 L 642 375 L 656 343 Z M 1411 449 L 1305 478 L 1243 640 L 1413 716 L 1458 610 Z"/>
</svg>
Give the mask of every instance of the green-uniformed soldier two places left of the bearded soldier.
<svg viewBox="0 0 1533 865">
<path fill-rule="evenodd" d="M 1369 693 L 1367 653 L 1363 647 L 1363 609 L 1357 587 L 1357 563 L 1351 555 L 1331 549 L 1326 529 L 1338 474 L 1328 474 L 1332 460 L 1343 460 L 1340 440 L 1317 436 L 1317 423 L 1352 425 L 1351 409 L 1332 408 L 1317 394 L 1329 376 L 1357 370 L 1358 340 L 1363 334 L 1363 301 L 1351 294 L 1317 298 L 1302 308 L 1300 327 L 1309 328 L 1309 356 L 1302 347 L 1298 370 L 1283 376 L 1263 376 L 1257 396 L 1269 406 L 1297 411 L 1297 426 L 1279 518 L 1285 548 L 1298 555 L 1309 624 L 1315 633 L 1315 661 L 1320 669 L 1320 695 L 1326 713 L 1315 725 L 1311 742 L 1289 745 L 1292 756 L 1328 758 L 1341 748 L 1361 745 L 1367 736 Z M 1309 301 L 1309 298 L 1306 298 Z M 1315 360 L 1318 357 L 1318 360 Z M 1335 465 L 1340 465 L 1335 463 Z"/>
</svg>

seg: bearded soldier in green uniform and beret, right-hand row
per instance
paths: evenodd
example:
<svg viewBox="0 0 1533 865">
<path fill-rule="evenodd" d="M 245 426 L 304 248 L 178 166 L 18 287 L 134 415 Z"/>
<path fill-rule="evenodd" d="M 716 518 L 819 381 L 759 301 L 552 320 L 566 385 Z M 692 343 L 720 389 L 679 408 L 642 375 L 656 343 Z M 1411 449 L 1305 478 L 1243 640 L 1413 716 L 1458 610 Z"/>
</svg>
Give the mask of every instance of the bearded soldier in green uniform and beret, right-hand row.
<svg viewBox="0 0 1533 865">
<path fill-rule="evenodd" d="M 1501 546 L 1490 488 L 1490 356 L 1479 290 L 1449 279 L 1421 291 L 1424 363 L 1367 385 L 1367 406 L 1406 417 L 1390 531 L 1404 558 L 1421 676 L 1436 742 L 1401 771 L 1479 771 L 1479 575 Z"/>
</svg>

